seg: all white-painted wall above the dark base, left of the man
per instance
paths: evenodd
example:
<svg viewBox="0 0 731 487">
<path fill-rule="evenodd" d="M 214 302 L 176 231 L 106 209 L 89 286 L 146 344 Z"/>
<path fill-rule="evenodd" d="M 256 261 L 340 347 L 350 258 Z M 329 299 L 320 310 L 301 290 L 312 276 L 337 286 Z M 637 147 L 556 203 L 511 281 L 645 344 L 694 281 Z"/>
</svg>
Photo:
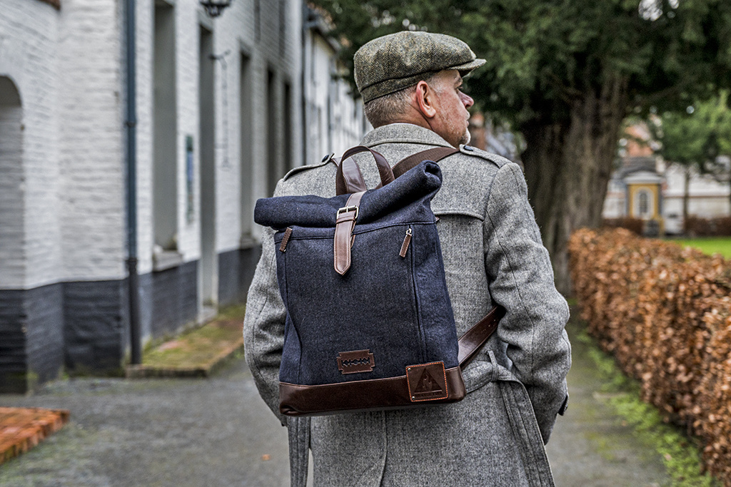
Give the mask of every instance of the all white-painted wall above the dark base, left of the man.
<svg viewBox="0 0 731 487">
<path fill-rule="evenodd" d="M 366 123 L 360 102 L 349 96 L 348 85 L 332 77 L 339 69 L 333 47 L 311 30 L 306 32 L 303 49 L 300 0 L 237 0 L 216 19 L 205 16 L 197 0 L 162 1 L 173 6 L 175 15 L 178 253 L 183 261 L 196 261 L 201 256 L 201 24 L 213 31 L 213 50 L 226 64 L 224 69 L 223 61 L 216 61 L 213 82 L 217 252 L 235 250 L 243 240 L 258 237 L 260 228 L 249 222 L 254 202 L 270 196 L 270 156 L 281 164 L 277 174 L 281 177 L 294 166 L 312 164 L 325 153 L 342 153 L 356 145 Z M 151 272 L 154 253 L 154 4 L 155 0 L 137 0 L 136 10 L 140 274 Z M 13 198 L 3 200 L 7 211 L 2 221 L 23 233 L 22 250 L 12 257 L 3 254 L 0 288 L 122 279 L 127 255 L 124 2 L 63 0 L 62 8 L 54 9 L 37 0 L 0 0 L 0 12 L 0 76 L 10 78 L 18 88 L 23 127 L 22 164 L 0 163 L 8 166 L 0 169 L 20 171 L 16 180 L 4 180 L 13 191 L 2 191 L 0 198 Z M 254 114 L 251 147 L 243 151 L 242 53 L 249 58 L 251 76 L 251 91 L 244 96 L 250 97 Z M 267 135 L 270 71 L 276 83 L 272 155 Z M 285 83 L 290 87 L 289 107 L 284 107 Z M 306 126 L 303 96 L 308 107 Z M 18 125 L 11 115 L 5 118 L 3 123 Z M 285 140 L 287 120 L 291 135 Z M 194 139 L 192 218 L 186 215 L 186 136 Z M 241 153 L 250 156 L 242 161 Z M 242 176 L 242 167 L 251 177 Z"/>
</svg>

